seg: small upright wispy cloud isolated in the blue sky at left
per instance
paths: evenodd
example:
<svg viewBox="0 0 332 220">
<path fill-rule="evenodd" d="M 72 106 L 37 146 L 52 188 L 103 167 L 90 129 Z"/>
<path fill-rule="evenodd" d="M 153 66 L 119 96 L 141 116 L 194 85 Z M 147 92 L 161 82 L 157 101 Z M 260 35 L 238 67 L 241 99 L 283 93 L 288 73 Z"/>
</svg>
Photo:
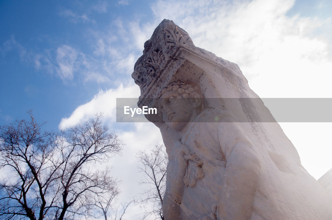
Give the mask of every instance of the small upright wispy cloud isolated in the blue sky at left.
<svg viewBox="0 0 332 220">
<path fill-rule="evenodd" d="M 74 77 L 75 61 L 77 59 L 77 51 L 68 46 L 62 45 L 56 50 L 57 74 L 62 80 L 72 80 Z"/>
</svg>

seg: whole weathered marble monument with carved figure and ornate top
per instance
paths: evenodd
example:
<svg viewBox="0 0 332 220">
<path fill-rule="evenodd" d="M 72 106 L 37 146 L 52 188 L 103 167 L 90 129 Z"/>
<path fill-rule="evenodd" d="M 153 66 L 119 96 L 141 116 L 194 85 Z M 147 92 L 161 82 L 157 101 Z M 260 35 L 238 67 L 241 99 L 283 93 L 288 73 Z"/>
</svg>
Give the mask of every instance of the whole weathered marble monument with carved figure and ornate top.
<svg viewBox="0 0 332 220">
<path fill-rule="evenodd" d="M 164 20 L 132 77 L 138 106 L 159 109 L 146 117 L 169 156 L 165 219 L 332 219 L 331 200 L 279 124 L 262 123 L 274 118 L 236 64 Z"/>
</svg>

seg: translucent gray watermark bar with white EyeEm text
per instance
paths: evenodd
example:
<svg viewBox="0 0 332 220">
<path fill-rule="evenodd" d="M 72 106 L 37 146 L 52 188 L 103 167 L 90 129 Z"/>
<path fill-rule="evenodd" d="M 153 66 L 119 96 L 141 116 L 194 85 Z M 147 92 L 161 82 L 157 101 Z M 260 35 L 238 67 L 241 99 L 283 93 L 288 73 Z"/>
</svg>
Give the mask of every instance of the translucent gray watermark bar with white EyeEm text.
<svg viewBox="0 0 332 220">
<path fill-rule="evenodd" d="M 174 98 L 151 99 L 149 103 L 154 106 L 140 108 L 137 98 L 117 98 L 117 122 L 148 122 L 145 117 L 152 122 L 162 122 L 166 110 L 171 111 L 168 114 L 180 114 L 183 106 L 192 103 L 190 98 Z M 203 98 L 199 101 L 202 106 L 193 107 L 193 111 L 211 114 L 211 117 L 200 117 L 197 122 L 220 122 L 219 116 L 223 117 L 225 113 L 231 115 L 230 122 L 332 122 L 332 98 Z"/>
</svg>

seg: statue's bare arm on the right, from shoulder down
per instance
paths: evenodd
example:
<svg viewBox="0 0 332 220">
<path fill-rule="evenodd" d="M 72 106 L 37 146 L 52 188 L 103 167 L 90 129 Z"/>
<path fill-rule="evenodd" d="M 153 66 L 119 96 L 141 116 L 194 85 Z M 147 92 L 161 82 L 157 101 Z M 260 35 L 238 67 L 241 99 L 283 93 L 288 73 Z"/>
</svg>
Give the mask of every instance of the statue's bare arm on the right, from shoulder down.
<svg viewBox="0 0 332 220">
<path fill-rule="evenodd" d="M 221 126 L 219 141 L 227 163 L 218 219 L 250 219 L 260 174 L 259 154 L 237 123 Z"/>
</svg>

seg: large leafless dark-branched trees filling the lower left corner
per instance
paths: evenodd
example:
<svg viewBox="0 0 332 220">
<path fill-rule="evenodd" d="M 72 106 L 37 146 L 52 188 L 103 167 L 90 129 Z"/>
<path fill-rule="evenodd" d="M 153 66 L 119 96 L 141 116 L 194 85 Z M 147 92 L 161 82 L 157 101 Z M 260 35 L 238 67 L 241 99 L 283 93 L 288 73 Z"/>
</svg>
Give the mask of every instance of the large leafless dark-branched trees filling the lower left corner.
<svg viewBox="0 0 332 220">
<path fill-rule="evenodd" d="M 122 141 L 101 115 L 58 134 L 30 120 L 0 127 L 0 218 L 74 219 L 93 216 L 91 199 L 118 194 L 104 163 Z"/>
</svg>

